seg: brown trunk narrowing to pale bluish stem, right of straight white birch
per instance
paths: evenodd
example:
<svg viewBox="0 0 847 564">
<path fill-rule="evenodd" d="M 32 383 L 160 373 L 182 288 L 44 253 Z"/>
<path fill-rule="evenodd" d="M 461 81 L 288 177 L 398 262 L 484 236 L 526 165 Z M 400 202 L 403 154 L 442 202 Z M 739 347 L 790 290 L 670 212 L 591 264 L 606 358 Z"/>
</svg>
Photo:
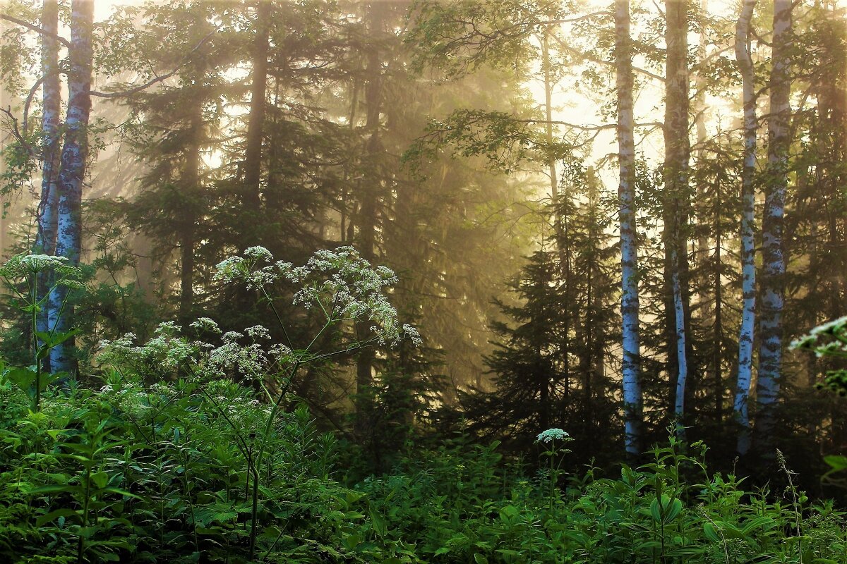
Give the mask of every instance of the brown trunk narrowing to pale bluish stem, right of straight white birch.
<svg viewBox="0 0 847 564">
<path fill-rule="evenodd" d="M 679 438 L 684 438 L 682 419 L 685 415 L 685 384 L 688 380 L 688 327 L 686 324 L 687 277 L 683 263 L 688 262 L 689 206 L 689 72 L 688 72 L 688 1 L 665 2 L 667 25 L 665 79 L 665 282 L 670 285 L 673 309 L 668 312 L 668 325 L 673 328 L 673 347 L 668 363 L 676 370 L 676 399 L 673 416 Z M 671 334 L 671 333 L 669 333 Z"/>
</svg>

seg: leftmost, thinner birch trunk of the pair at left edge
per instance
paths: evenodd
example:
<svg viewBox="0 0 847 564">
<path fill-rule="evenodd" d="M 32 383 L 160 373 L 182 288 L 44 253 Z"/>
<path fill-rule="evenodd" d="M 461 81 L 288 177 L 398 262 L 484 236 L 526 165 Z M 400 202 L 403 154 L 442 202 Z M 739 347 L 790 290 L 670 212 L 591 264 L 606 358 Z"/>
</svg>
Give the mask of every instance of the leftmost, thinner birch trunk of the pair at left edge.
<svg viewBox="0 0 847 564">
<path fill-rule="evenodd" d="M 58 0 L 44 0 L 42 28 L 49 33 L 58 33 Z M 62 91 L 59 82 L 58 41 L 47 35 L 42 40 L 42 194 L 38 204 L 38 234 L 34 252 L 53 255 L 56 252 L 56 228 L 58 213 L 59 172 L 59 113 L 62 111 Z M 2 248 L 0 248 L 2 251 Z M 50 272 L 38 276 L 36 296 L 41 302 L 50 291 Z M 49 308 L 42 305 L 36 323 L 37 331 L 47 331 Z M 41 344 L 39 342 L 39 344 Z M 50 359 L 44 359 L 44 370 L 49 372 Z"/>
</svg>

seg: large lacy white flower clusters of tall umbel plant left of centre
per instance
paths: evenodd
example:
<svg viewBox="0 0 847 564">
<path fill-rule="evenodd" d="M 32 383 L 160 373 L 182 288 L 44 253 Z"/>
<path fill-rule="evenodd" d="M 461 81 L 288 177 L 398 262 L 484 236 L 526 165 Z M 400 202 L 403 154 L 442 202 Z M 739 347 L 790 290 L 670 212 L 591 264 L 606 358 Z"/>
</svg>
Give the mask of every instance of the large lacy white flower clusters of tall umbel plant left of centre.
<svg viewBox="0 0 847 564">
<path fill-rule="evenodd" d="M 304 266 L 274 261 L 268 249 L 251 247 L 241 256 L 221 262 L 214 278 L 257 290 L 271 302 L 275 283 L 296 284 L 300 289 L 293 293 L 291 303 L 320 310 L 326 326 L 368 320 L 373 342 L 396 344 L 403 338 L 416 345 L 421 342 L 414 327 L 399 322 L 397 310 L 386 296 L 397 281 L 394 272 L 371 266 L 352 247 L 319 250 Z M 274 372 L 274 367 L 285 369 L 315 353 L 294 351 L 281 343 L 264 344 L 272 338 L 265 326 L 224 332 L 214 320 L 201 317 L 190 327 L 198 336 L 195 340 L 185 337 L 182 327 L 169 321 L 159 325 L 153 338 L 143 345 L 136 344 L 136 336 L 131 333 L 101 342 L 99 359 L 102 364 L 135 367 L 139 375 L 201 375 L 209 381 L 225 375 L 261 379 Z M 219 339 L 219 344 L 208 342 L 210 336 Z"/>
</svg>

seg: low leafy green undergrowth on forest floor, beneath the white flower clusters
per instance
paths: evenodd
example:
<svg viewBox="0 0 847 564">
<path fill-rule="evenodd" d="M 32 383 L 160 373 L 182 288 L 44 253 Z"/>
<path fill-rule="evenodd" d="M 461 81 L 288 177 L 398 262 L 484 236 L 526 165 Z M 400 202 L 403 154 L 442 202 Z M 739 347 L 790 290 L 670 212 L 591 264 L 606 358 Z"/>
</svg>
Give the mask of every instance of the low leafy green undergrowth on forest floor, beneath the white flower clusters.
<svg viewBox="0 0 847 564">
<path fill-rule="evenodd" d="M 8 381 L 0 392 L 8 562 L 847 561 L 832 503 L 746 490 L 708 472 L 699 444 L 671 439 L 610 479 L 558 471 L 567 454 L 550 445 L 531 474 L 496 443 L 447 441 L 353 482 L 307 409 L 264 434 L 267 404 L 231 381 L 110 371 L 100 391 L 47 392 L 39 413 Z"/>
</svg>

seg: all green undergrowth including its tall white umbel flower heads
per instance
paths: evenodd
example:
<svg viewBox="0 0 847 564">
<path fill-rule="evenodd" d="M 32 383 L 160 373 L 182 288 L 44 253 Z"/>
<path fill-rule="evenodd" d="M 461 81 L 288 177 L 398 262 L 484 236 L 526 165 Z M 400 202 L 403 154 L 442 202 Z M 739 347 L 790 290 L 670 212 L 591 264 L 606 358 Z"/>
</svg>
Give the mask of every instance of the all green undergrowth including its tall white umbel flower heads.
<svg viewBox="0 0 847 564">
<path fill-rule="evenodd" d="M 4 275 L 26 282 L 19 266 L 32 260 Z M 417 341 L 388 301 L 396 278 L 350 248 L 299 267 L 247 249 L 217 276 L 269 308 L 302 305 L 318 334 L 292 348 L 261 326 L 163 323 L 147 342 L 103 342 L 98 386 L 36 387 L 5 366 L 3 561 L 847 562 L 844 513 L 794 485 L 781 453 L 786 487 L 753 488 L 710 472 L 706 446 L 673 433 L 606 477 L 562 469 L 573 437 L 561 429 L 538 434 L 535 462 L 459 437 L 353 475 L 339 463 L 352 446 L 318 430 L 290 383 L 304 364 L 367 346 L 313 349 L 324 331 L 343 342 L 359 318 L 372 342 Z"/>
</svg>

